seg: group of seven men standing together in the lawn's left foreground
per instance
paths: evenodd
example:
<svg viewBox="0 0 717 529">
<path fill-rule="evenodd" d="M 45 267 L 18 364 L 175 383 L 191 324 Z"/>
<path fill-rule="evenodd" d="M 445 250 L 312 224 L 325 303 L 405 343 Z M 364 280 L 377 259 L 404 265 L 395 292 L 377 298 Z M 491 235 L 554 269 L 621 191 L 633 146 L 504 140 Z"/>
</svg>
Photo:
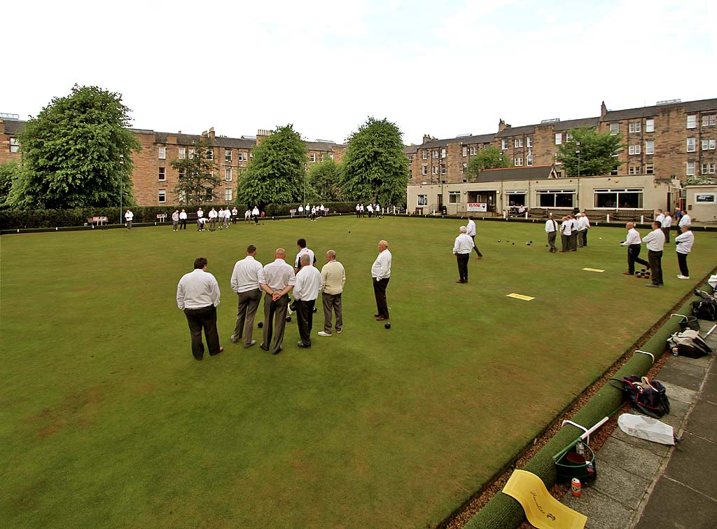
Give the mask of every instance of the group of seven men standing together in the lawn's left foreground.
<svg viewBox="0 0 717 529">
<path fill-rule="evenodd" d="M 377 312 L 376 321 L 389 319 L 386 302 L 386 287 L 391 277 L 391 252 L 385 240 L 379 241 L 379 255 L 371 266 L 374 282 Z M 336 251 L 326 252 L 326 264 L 319 271 L 316 258 L 303 238 L 297 240 L 298 253 L 294 266 L 288 264 L 284 248 L 277 248 L 274 261 L 262 266 L 257 261 L 257 247 L 249 245 L 246 257 L 237 261 L 232 271 L 232 291 L 237 294 L 237 322 L 230 337 L 232 343 L 242 342 L 245 348 L 256 345 L 252 340 L 254 320 L 262 297 L 264 298 L 264 322 L 260 348 L 274 355 L 282 352 L 286 322 L 293 312 L 297 315 L 299 341 L 297 347 L 311 347 L 313 312 L 318 295 L 322 295 L 324 325 L 318 332 L 320 337 L 331 337 L 333 331 L 341 334 L 343 312 L 341 293 L 346 283 L 346 271 L 336 261 Z M 177 285 L 176 302 L 189 324 L 191 352 L 196 360 L 204 357 L 202 332 L 206 338 L 209 355 L 218 355 L 224 350 L 219 345 L 217 332 L 217 306 L 219 305 L 219 284 L 212 273 L 206 271 L 206 258 L 196 258 L 194 270 L 184 274 Z M 293 301 L 290 303 L 289 294 Z M 333 326 L 332 326 L 333 321 Z"/>
</svg>

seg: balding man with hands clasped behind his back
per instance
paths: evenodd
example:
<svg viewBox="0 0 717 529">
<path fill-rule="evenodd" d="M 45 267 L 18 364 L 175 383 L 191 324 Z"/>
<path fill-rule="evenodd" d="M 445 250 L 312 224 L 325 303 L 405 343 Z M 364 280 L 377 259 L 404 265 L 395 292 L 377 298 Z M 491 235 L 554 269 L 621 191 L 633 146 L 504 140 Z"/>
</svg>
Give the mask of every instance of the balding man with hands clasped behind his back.
<svg viewBox="0 0 717 529">
<path fill-rule="evenodd" d="M 262 268 L 259 273 L 259 286 L 265 291 L 264 295 L 264 332 L 262 334 L 262 350 L 268 351 L 272 346 L 272 355 L 281 352 L 281 344 L 284 341 L 286 329 L 286 310 L 289 306 L 289 292 L 294 288 L 296 276 L 291 265 L 287 264 L 286 251 L 284 248 L 277 248 L 274 253 L 274 261 Z M 272 334 L 274 342 L 272 342 Z"/>
</svg>

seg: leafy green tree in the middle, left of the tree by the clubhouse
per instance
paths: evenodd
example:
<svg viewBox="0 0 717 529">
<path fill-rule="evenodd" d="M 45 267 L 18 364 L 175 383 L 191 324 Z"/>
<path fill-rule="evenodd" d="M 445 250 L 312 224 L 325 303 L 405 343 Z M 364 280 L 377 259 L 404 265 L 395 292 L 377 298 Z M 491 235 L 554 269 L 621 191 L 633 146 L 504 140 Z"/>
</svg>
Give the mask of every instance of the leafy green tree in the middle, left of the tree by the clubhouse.
<svg viewBox="0 0 717 529">
<path fill-rule="evenodd" d="M 277 126 L 252 154 L 239 181 L 237 202 L 264 207 L 303 200 L 308 150 L 293 125 Z"/>
</svg>

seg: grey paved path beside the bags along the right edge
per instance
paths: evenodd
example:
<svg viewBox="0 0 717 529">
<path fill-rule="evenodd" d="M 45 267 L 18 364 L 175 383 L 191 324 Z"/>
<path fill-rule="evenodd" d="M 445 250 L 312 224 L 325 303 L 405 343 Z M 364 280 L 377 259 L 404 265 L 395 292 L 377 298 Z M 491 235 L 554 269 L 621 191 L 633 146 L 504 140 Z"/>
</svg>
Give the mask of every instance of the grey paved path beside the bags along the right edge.
<svg viewBox="0 0 717 529">
<path fill-rule="evenodd" d="M 701 321 L 705 334 L 715 322 Z M 717 355 L 717 329 L 708 337 Z M 675 446 L 619 428 L 596 454 L 598 477 L 582 497 L 563 503 L 588 517 L 588 529 L 717 528 L 717 361 L 670 356 L 655 377 L 667 388 L 661 420 L 682 439 Z M 636 412 L 632 412 L 636 413 Z"/>
</svg>

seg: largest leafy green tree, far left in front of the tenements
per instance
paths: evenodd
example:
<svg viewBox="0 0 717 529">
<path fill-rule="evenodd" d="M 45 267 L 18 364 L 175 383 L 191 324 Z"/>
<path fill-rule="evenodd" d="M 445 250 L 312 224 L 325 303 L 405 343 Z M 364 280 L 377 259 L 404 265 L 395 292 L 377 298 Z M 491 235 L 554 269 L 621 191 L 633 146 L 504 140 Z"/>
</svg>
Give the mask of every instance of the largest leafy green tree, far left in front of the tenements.
<svg viewBox="0 0 717 529">
<path fill-rule="evenodd" d="M 14 179 L 11 205 L 65 209 L 133 204 L 132 152 L 122 95 L 96 86 L 72 87 L 53 98 L 19 135 L 25 171 Z"/>
</svg>

